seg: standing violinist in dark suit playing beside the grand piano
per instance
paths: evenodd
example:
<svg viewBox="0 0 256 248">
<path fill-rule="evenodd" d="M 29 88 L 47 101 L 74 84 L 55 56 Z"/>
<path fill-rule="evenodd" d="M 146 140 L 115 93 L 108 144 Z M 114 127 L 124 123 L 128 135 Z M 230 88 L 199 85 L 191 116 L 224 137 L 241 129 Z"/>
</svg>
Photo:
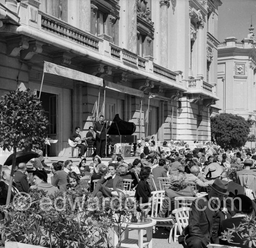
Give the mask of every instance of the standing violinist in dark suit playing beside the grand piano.
<svg viewBox="0 0 256 248">
<path fill-rule="evenodd" d="M 96 133 L 96 154 L 101 158 L 106 156 L 106 131 L 110 125 L 104 121 L 103 115 L 100 115 L 100 120 L 94 124 L 94 132 Z"/>
</svg>

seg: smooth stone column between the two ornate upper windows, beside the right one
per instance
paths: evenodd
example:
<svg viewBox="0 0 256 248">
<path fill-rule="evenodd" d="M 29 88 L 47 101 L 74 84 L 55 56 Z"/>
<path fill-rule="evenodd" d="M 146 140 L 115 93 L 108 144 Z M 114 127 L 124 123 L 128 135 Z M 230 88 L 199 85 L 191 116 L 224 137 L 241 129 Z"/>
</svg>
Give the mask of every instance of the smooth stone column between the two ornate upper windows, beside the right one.
<svg viewBox="0 0 256 248">
<path fill-rule="evenodd" d="M 132 53 L 137 53 L 137 1 L 127 1 L 128 23 L 127 23 L 127 49 Z"/>
</svg>

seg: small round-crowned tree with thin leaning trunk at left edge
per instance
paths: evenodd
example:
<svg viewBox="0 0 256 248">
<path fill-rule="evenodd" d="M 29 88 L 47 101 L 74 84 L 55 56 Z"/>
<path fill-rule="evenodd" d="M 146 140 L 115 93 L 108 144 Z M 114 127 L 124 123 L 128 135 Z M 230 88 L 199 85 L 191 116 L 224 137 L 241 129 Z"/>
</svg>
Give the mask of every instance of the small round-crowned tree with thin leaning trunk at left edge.
<svg viewBox="0 0 256 248">
<path fill-rule="evenodd" d="M 32 145 L 42 147 L 47 123 L 40 100 L 29 89 L 17 89 L 0 98 L 0 147 L 9 151 L 13 148 L 7 205 L 10 203 L 16 151 Z"/>
</svg>

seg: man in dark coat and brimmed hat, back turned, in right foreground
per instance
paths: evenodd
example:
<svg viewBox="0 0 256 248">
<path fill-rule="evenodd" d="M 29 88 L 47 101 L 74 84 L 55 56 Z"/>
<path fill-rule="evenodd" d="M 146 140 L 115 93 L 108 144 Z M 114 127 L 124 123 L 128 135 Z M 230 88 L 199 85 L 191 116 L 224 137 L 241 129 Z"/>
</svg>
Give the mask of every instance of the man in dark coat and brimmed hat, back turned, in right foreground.
<svg viewBox="0 0 256 248">
<path fill-rule="evenodd" d="M 209 195 L 192 202 L 189 225 L 179 236 L 179 243 L 184 248 L 206 248 L 210 242 L 219 242 L 220 223 L 225 219 L 219 204 L 229 194 L 228 182 L 217 178 L 210 187 Z"/>
</svg>

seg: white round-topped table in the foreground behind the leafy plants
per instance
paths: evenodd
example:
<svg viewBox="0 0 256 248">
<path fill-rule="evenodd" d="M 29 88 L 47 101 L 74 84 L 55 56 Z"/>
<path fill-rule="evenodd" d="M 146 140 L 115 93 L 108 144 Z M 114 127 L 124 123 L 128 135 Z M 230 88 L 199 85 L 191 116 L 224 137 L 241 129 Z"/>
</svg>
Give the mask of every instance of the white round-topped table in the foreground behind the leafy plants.
<svg viewBox="0 0 256 248">
<path fill-rule="evenodd" d="M 124 240 L 121 241 L 121 247 L 126 248 L 142 248 L 148 246 L 152 248 L 152 234 L 153 227 L 156 225 L 156 220 L 148 218 L 151 220 L 149 223 L 122 223 L 121 228 L 126 228 L 124 231 Z M 138 230 L 138 239 L 129 239 L 129 229 Z M 146 229 L 147 240 L 143 241 L 143 231 Z M 114 226 L 114 247 L 118 244 L 118 226 Z"/>
</svg>

